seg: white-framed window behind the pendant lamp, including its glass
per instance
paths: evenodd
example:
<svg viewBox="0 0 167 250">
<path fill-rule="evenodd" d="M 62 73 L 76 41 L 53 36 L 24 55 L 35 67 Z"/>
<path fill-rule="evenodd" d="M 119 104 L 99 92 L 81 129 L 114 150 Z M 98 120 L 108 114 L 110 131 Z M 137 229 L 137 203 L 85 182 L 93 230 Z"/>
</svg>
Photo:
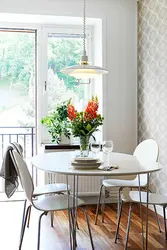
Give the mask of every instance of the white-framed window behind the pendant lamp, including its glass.
<svg viewBox="0 0 167 250">
<path fill-rule="evenodd" d="M 58 103 L 72 98 L 77 110 L 82 110 L 91 96 L 90 84 L 78 84 L 74 77 L 65 75 L 60 70 L 66 66 L 79 64 L 83 48 L 81 29 L 43 29 L 43 89 L 42 117 L 53 111 Z M 91 31 L 87 32 L 86 46 L 90 55 Z M 46 52 L 45 52 L 46 51 Z M 49 142 L 50 136 L 41 128 L 42 142 Z"/>
</svg>

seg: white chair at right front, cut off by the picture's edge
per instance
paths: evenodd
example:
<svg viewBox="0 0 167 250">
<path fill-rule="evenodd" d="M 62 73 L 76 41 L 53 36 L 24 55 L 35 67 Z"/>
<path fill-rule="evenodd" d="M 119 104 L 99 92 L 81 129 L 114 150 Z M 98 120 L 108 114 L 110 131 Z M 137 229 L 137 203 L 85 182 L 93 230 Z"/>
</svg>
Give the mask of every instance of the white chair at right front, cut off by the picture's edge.
<svg viewBox="0 0 167 250">
<path fill-rule="evenodd" d="M 122 206 L 124 202 L 130 202 L 128 224 L 127 224 L 127 231 L 126 231 L 126 241 L 125 241 L 125 248 L 124 248 L 124 249 L 127 249 L 132 208 L 134 207 L 135 203 L 140 203 L 139 191 L 130 191 L 128 194 L 121 195 L 121 207 L 120 207 L 120 213 L 118 217 L 118 224 L 117 224 L 117 230 L 116 230 L 116 235 L 115 235 L 115 243 L 117 243 L 117 239 L 119 235 L 119 225 L 120 225 L 121 214 L 122 214 Z M 147 204 L 147 192 L 141 192 L 141 203 Z M 167 240 L 166 213 L 165 213 L 165 208 L 167 207 L 167 196 L 161 195 L 161 194 L 149 193 L 148 204 L 153 205 L 153 206 L 155 205 L 163 206 L 165 238 Z"/>
</svg>

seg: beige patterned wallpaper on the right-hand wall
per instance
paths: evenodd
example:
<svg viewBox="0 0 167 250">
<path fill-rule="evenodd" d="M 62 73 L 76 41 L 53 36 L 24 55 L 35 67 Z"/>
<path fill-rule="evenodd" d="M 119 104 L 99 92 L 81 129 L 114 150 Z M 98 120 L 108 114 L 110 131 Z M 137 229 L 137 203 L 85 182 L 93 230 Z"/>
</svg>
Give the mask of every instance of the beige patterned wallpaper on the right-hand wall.
<svg viewBox="0 0 167 250">
<path fill-rule="evenodd" d="M 138 140 L 158 142 L 151 189 L 167 194 L 167 0 L 139 0 L 138 13 Z"/>
</svg>

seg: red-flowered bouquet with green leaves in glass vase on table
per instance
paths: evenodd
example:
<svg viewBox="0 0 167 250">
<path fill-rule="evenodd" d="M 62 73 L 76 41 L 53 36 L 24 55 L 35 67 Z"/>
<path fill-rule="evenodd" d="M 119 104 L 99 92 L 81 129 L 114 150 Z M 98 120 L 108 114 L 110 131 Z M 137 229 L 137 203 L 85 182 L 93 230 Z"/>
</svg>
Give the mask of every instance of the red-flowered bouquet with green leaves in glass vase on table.
<svg viewBox="0 0 167 250">
<path fill-rule="evenodd" d="M 71 133 L 80 138 L 81 156 L 89 154 L 89 139 L 98 127 L 103 124 L 104 117 L 98 114 L 99 102 L 97 97 L 92 97 L 84 111 L 78 112 L 69 102 L 67 112 L 71 123 Z"/>
</svg>

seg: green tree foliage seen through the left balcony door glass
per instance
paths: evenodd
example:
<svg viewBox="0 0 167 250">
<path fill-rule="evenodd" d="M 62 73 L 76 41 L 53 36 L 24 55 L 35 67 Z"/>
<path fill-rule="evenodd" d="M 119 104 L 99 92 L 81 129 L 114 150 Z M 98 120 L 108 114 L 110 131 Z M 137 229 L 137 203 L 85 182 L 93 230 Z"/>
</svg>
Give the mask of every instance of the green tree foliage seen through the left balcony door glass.
<svg viewBox="0 0 167 250">
<path fill-rule="evenodd" d="M 25 88 L 34 76 L 34 33 L 0 33 L 0 80 L 22 82 Z"/>
</svg>

